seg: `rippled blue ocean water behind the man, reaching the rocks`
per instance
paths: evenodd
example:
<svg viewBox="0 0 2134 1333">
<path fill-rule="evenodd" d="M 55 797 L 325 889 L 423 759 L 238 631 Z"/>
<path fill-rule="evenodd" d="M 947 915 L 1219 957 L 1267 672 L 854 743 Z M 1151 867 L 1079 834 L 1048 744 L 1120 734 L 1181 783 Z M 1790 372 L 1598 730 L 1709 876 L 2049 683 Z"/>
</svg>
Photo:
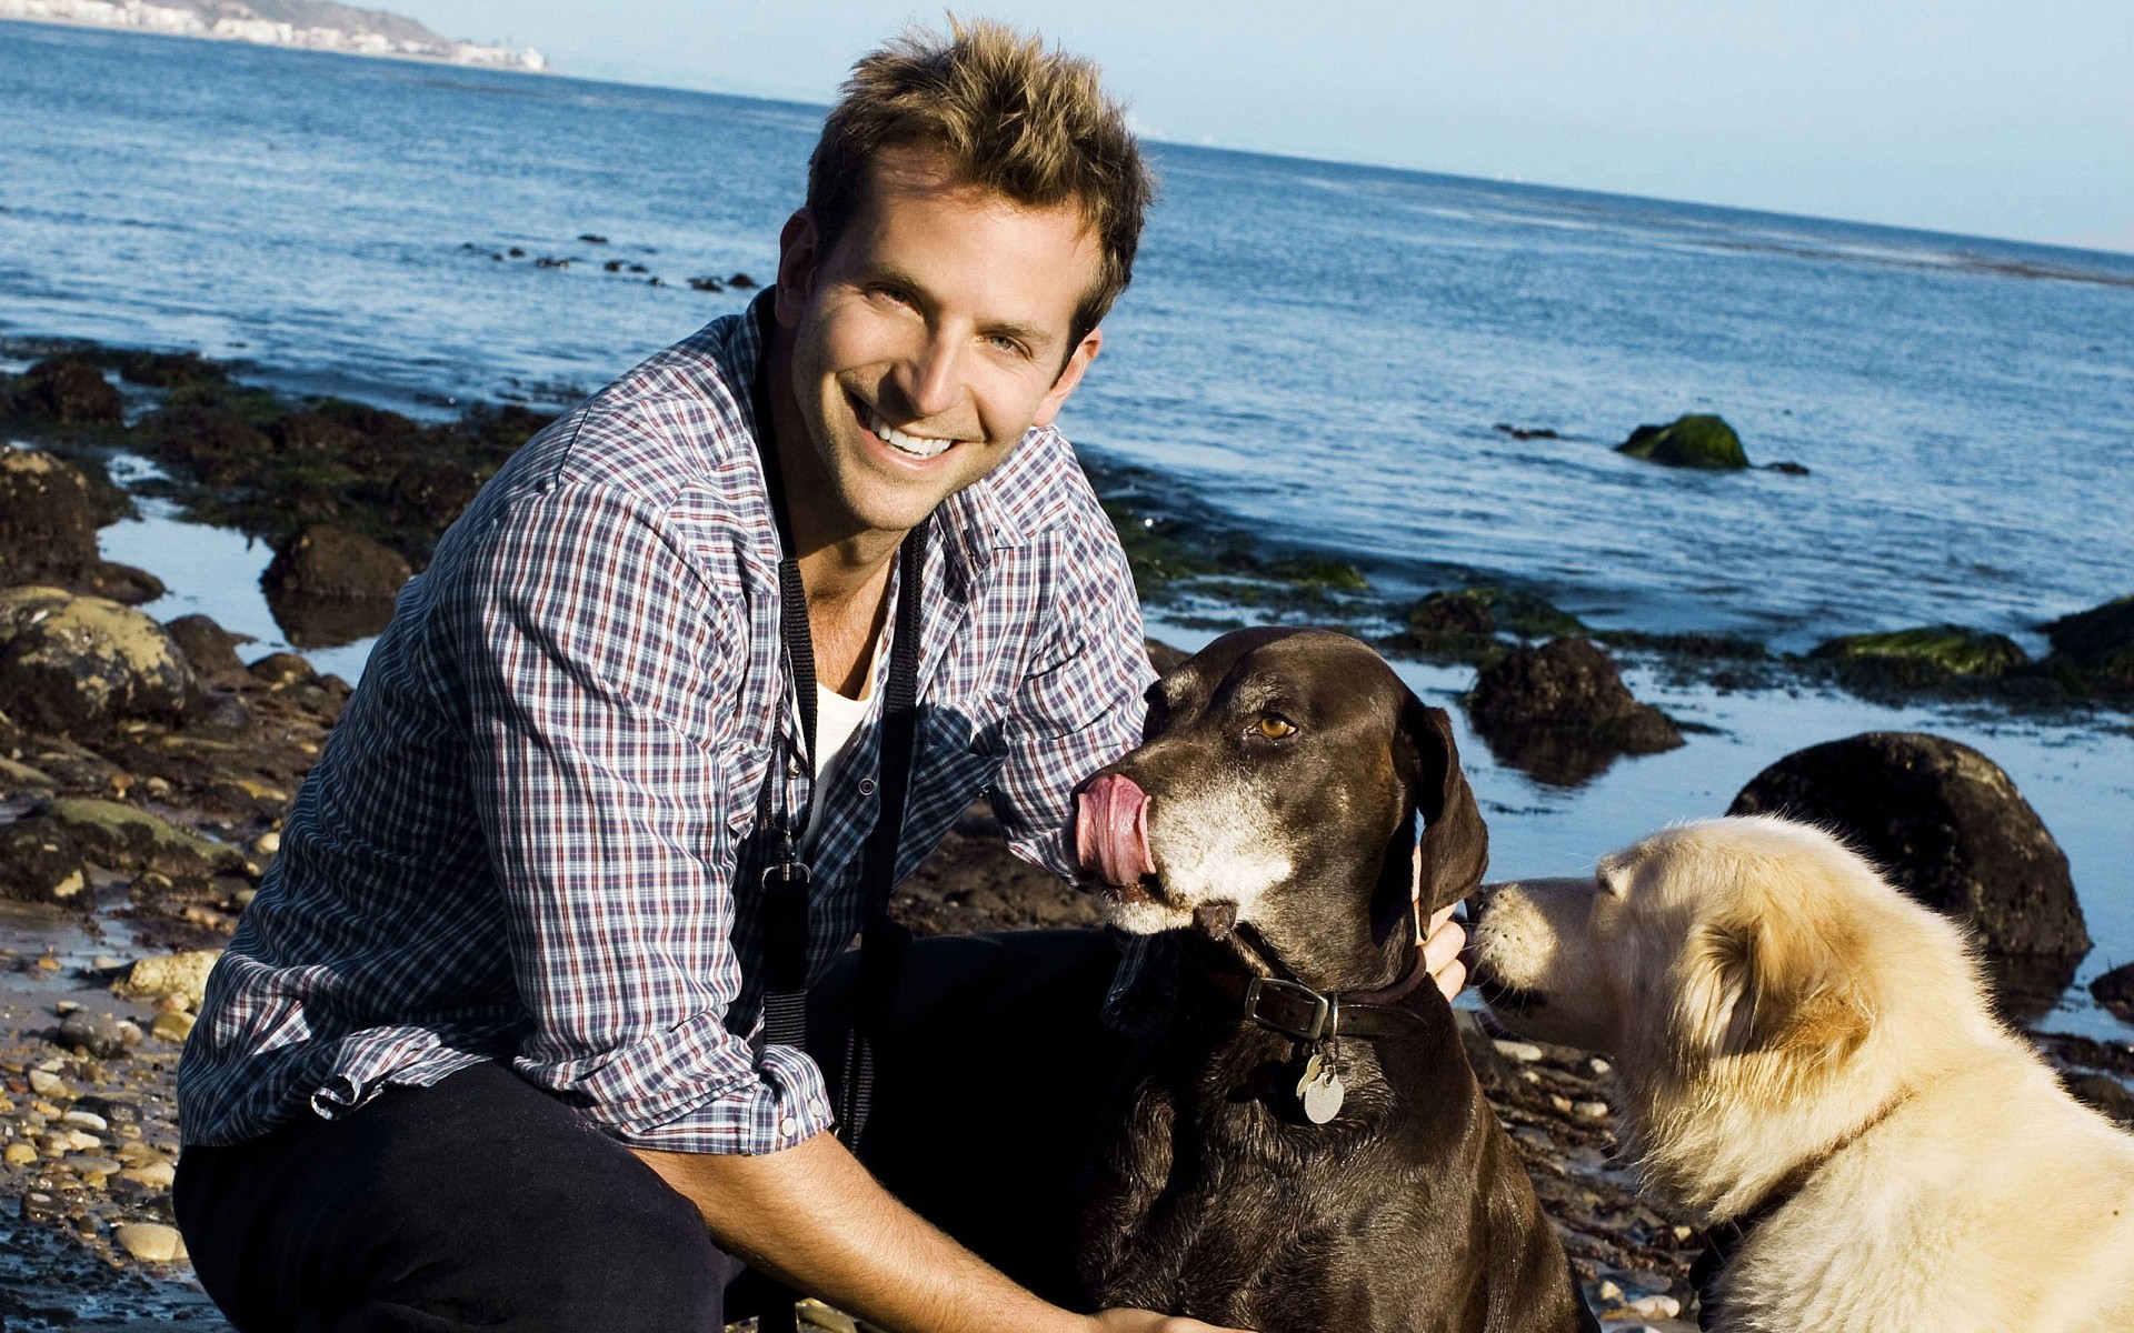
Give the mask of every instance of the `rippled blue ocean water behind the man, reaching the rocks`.
<svg viewBox="0 0 2134 1333">
<path fill-rule="evenodd" d="M 819 115 L 0 23 L 0 335 L 198 348 L 431 416 L 563 407 L 747 301 L 687 279 L 770 277 Z M 1782 651 L 1940 621 L 2040 651 L 2040 621 L 2134 591 L 2134 256 L 1150 151 L 1163 198 L 1063 427 L 1381 593 L 1502 582 L 1598 627 Z M 1810 473 L 1611 452 L 1684 412 Z M 149 510 L 107 552 L 173 582 L 158 614 L 271 640 L 245 623 L 265 552 L 175 527 Z M 361 648 L 322 665 L 354 678 Z M 1402 672 L 1434 702 L 1470 680 Z M 1577 789 L 1462 732 L 1498 874 L 1718 813 L 1803 744 L 1931 729 L 2008 768 L 2068 849 L 2100 941 L 2081 977 L 2134 960 L 2123 714 L 1630 680 L 1714 732 Z M 2047 1026 L 2130 1034 L 2081 987 Z"/>
</svg>

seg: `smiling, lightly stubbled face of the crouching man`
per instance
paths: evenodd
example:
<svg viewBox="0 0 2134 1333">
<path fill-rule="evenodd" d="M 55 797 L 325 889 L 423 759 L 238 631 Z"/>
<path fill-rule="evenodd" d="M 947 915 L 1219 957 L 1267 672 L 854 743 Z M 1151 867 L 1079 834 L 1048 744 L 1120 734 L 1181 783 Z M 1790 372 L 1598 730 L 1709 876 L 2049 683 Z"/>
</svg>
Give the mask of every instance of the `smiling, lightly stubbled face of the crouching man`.
<svg viewBox="0 0 2134 1333">
<path fill-rule="evenodd" d="M 783 441 L 787 501 L 828 540 L 922 523 L 1050 424 L 1103 341 L 1069 341 L 1099 267 L 1080 211 L 962 186 L 937 149 L 881 154 L 828 252 L 805 209 L 781 245 L 777 318 L 811 450 Z"/>
</svg>

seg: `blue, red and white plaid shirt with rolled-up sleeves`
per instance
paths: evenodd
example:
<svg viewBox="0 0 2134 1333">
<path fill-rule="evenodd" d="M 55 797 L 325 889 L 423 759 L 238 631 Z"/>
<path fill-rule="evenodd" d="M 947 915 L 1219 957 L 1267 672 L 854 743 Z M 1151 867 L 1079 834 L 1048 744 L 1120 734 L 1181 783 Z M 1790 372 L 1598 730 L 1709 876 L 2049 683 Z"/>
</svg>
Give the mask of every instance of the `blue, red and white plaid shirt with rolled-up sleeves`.
<svg viewBox="0 0 2134 1333">
<path fill-rule="evenodd" d="M 815 1064 L 747 1041 L 770 845 L 749 834 L 813 783 L 785 761 L 758 354 L 732 316 L 608 386 L 401 593 L 209 979 L 186 1143 L 480 1060 L 644 1147 L 775 1152 L 830 1124 Z M 898 877 L 988 787 L 1016 853 L 1067 874 L 1069 791 L 1137 740 L 1150 680 L 1118 537 L 1052 429 L 933 523 Z M 851 744 L 815 802 L 815 977 L 864 915 L 875 721 Z"/>
</svg>

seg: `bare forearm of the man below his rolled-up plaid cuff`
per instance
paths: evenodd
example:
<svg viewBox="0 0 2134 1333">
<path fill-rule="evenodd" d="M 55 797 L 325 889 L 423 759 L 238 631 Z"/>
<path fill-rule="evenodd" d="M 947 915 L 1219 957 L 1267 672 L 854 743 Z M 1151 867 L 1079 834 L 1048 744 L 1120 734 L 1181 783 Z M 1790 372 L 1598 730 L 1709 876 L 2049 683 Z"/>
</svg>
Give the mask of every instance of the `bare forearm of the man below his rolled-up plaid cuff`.
<svg viewBox="0 0 2134 1333">
<path fill-rule="evenodd" d="M 832 1135 L 764 1156 L 638 1156 L 753 1267 L 898 1333 L 1086 1333 L 898 1203 Z"/>
</svg>

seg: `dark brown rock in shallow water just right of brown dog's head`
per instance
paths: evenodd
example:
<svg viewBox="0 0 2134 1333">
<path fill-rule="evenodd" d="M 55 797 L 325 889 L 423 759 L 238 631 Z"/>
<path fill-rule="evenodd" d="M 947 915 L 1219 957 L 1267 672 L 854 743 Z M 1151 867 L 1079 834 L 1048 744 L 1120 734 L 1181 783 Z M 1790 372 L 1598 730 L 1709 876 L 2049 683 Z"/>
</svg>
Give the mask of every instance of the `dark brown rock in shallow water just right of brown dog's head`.
<svg viewBox="0 0 2134 1333">
<path fill-rule="evenodd" d="M 1483 665 L 1466 710 L 1498 759 L 1566 787 L 1607 770 L 1618 755 L 1682 744 L 1675 723 L 1639 704 L 1615 661 L 1581 638 L 1515 648 Z"/>
</svg>

